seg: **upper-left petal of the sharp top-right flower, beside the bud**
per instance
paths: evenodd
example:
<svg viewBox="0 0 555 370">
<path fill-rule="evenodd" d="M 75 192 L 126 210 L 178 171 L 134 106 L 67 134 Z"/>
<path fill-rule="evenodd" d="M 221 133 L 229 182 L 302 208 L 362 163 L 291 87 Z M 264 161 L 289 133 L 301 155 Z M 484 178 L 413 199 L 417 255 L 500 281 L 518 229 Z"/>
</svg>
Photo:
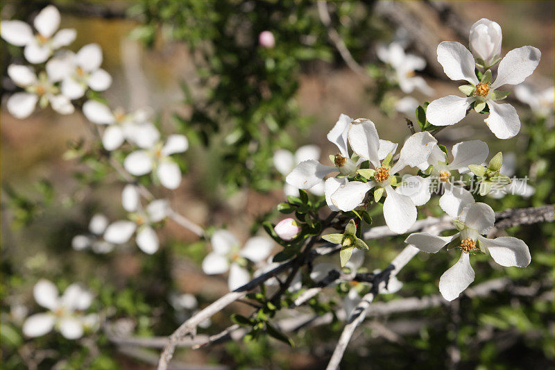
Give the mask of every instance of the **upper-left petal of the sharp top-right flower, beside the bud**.
<svg viewBox="0 0 555 370">
<path fill-rule="evenodd" d="M 441 42 L 438 45 L 438 62 L 443 67 L 443 72 L 453 81 L 466 80 L 472 85 L 479 83 L 474 73 L 474 57 L 460 42 Z"/>
</svg>

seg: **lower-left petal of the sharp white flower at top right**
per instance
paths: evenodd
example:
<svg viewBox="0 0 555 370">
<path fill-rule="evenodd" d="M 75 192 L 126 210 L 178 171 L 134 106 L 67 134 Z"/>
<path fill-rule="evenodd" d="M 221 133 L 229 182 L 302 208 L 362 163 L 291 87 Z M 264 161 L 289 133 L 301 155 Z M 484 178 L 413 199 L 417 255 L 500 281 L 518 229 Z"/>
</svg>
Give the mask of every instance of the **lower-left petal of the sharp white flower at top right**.
<svg viewBox="0 0 555 370">
<path fill-rule="evenodd" d="M 447 95 L 429 103 L 426 108 L 426 119 L 435 126 L 450 126 L 466 116 L 470 103 L 475 101 L 473 96 L 461 98 L 456 95 Z"/>
</svg>

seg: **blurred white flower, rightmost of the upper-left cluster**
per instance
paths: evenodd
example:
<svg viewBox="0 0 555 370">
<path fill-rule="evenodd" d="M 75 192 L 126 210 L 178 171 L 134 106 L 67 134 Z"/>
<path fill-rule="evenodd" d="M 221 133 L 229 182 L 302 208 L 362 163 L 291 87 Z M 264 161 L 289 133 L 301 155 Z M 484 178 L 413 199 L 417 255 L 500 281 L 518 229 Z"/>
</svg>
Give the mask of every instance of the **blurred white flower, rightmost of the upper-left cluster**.
<svg viewBox="0 0 555 370">
<path fill-rule="evenodd" d="M 67 51 L 46 63 L 46 71 L 62 81 L 62 94 L 79 99 L 87 88 L 104 91 L 112 85 L 112 76 L 101 69 L 102 49 L 99 44 L 87 44 L 77 53 Z"/>
</svg>

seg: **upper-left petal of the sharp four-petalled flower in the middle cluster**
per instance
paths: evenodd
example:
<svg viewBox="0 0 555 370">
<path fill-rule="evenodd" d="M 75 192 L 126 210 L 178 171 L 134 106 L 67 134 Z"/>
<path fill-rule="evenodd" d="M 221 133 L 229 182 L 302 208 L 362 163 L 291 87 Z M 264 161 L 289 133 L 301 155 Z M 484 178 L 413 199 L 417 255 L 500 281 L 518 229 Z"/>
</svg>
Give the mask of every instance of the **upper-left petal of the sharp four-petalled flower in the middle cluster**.
<svg viewBox="0 0 555 370">
<path fill-rule="evenodd" d="M 379 137 L 376 126 L 370 119 L 357 119 L 352 122 L 348 133 L 352 150 L 374 167 L 379 167 Z"/>
</svg>

